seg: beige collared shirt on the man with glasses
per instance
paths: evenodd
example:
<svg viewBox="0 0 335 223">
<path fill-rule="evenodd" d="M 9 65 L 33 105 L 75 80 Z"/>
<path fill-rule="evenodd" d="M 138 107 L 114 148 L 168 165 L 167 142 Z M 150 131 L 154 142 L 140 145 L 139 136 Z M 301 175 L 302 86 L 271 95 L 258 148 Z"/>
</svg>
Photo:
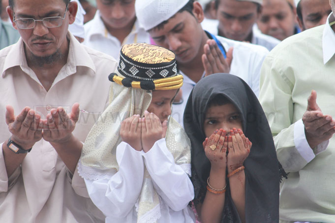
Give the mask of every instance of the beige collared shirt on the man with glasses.
<svg viewBox="0 0 335 223">
<path fill-rule="evenodd" d="M 67 63 L 46 91 L 28 67 L 22 39 L 0 51 L 0 142 L 11 134 L 5 123 L 5 106 L 15 115 L 29 106 L 45 118 L 52 108 L 70 112 L 80 104 L 80 118 L 73 132 L 84 141 L 98 115 L 108 105 L 108 75 L 117 62 L 89 49 L 68 33 Z M 2 223 L 96 223 L 104 216 L 88 198 L 84 180 L 72 174 L 56 150 L 45 140 L 35 143 L 21 167 L 8 178 L 0 145 L 0 222 Z"/>
</svg>

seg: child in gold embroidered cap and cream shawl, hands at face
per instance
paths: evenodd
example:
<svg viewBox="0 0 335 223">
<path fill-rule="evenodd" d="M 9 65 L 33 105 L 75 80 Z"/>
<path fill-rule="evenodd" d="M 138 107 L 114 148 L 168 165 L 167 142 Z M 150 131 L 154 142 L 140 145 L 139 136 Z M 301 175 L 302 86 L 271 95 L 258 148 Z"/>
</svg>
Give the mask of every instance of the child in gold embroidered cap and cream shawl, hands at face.
<svg viewBox="0 0 335 223">
<path fill-rule="evenodd" d="M 183 84 L 173 52 L 122 47 L 109 76 L 110 105 L 85 141 L 78 167 L 106 223 L 193 223 L 190 141 L 171 114 Z"/>
</svg>

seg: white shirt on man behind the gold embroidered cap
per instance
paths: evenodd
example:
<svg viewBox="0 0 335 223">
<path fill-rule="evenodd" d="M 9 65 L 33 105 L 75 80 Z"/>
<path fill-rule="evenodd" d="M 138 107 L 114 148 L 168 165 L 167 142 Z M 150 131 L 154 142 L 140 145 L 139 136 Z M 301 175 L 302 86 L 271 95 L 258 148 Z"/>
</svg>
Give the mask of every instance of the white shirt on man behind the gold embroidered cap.
<svg viewBox="0 0 335 223">
<path fill-rule="evenodd" d="M 108 32 L 103 24 L 99 10 L 96 11 L 94 18 L 84 25 L 84 28 L 84 45 L 113 56 L 117 60 L 119 60 L 120 50 L 124 44 L 150 43 L 149 34 L 140 26 L 138 20 L 135 21 L 131 32 L 121 43 L 118 38 Z"/>
</svg>

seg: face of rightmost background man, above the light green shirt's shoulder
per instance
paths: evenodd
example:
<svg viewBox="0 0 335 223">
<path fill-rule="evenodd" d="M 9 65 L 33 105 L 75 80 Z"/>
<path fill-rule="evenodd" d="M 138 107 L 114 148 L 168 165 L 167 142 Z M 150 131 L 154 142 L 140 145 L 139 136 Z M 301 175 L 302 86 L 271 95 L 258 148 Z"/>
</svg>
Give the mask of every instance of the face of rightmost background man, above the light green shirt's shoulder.
<svg viewBox="0 0 335 223">
<path fill-rule="evenodd" d="M 296 4 L 297 20 L 303 31 L 325 24 L 332 12 L 329 0 L 298 0 Z"/>
</svg>

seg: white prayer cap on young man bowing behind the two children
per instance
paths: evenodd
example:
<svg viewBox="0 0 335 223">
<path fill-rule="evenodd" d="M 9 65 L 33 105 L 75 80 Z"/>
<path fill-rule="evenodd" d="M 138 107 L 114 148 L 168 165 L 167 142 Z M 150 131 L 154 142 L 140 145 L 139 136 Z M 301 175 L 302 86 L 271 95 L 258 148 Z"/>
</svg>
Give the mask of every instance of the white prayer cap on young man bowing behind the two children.
<svg viewBox="0 0 335 223">
<path fill-rule="evenodd" d="M 136 17 L 149 30 L 174 16 L 188 0 L 136 0 Z"/>
</svg>

